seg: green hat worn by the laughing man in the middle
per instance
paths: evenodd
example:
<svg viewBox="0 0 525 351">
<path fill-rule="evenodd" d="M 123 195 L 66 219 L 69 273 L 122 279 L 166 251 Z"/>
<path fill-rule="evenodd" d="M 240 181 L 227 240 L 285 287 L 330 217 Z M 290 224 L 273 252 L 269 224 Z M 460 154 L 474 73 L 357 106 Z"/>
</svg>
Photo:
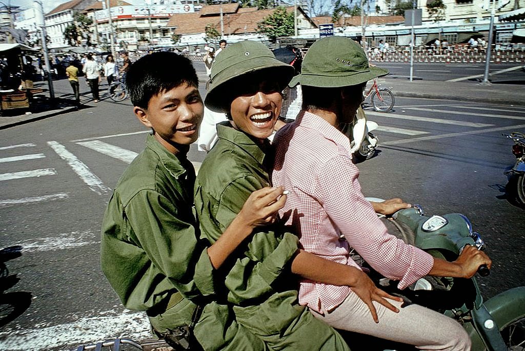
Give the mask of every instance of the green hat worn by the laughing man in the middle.
<svg viewBox="0 0 525 351">
<path fill-rule="evenodd" d="M 259 41 L 239 41 L 220 52 L 212 64 L 212 75 L 204 103 L 216 112 L 229 112 L 235 98 L 232 94 L 235 82 L 248 73 L 265 70 L 265 76 L 285 89 L 295 70 L 274 56 L 274 53 Z M 267 71 L 267 73 L 266 73 Z"/>
</svg>

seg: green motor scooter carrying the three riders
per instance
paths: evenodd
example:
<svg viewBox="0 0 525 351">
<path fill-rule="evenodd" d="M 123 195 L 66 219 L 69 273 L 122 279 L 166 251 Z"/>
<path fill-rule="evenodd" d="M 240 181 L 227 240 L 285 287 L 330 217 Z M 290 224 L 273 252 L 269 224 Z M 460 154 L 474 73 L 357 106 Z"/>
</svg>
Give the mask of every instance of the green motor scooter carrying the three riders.
<svg viewBox="0 0 525 351">
<path fill-rule="evenodd" d="M 466 245 L 476 246 L 480 250 L 485 248 L 481 236 L 473 231 L 471 222 L 462 214 L 425 216 L 422 207 L 415 205 L 383 220 L 387 221 L 388 232 L 392 235 L 448 261 L 456 260 Z M 482 266 L 478 273 L 486 276 L 489 271 Z M 504 291 L 484 301 L 474 277 L 425 276 L 404 290 L 398 290 L 396 282 L 374 271 L 371 272 L 371 278 L 390 294 L 403 296 L 405 301 L 454 318 L 469 334 L 472 351 L 525 350 L 525 286 Z M 358 341 L 355 345 L 351 338 L 349 345 L 351 349 L 363 349 L 362 345 L 365 344 Z M 367 340 L 366 345 L 367 350 L 415 349 L 413 346 L 376 338 L 372 338 L 372 342 Z"/>
</svg>

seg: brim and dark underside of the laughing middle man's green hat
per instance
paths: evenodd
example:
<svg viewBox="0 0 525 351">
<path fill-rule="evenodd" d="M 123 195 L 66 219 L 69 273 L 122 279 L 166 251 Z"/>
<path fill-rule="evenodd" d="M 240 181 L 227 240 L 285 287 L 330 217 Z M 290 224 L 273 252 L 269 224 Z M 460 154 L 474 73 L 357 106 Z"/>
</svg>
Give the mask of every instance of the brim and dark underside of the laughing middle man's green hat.
<svg viewBox="0 0 525 351">
<path fill-rule="evenodd" d="M 255 60 L 257 59 L 254 59 L 254 61 Z M 250 63 L 253 64 L 254 62 L 252 61 Z M 239 72 L 235 75 L 229 75 L 228 79 L 224 81 L 219 75 L 217 75 L 214 80 L 218 81 L 218 83 L 214 85 L 213 81 L 211 81 L 209 84 L 208 93 L 204 100 L 206 107 L 214 112 L 229 112 L 232 99 L 235 98 L 232 96 L 232 93 L 234 90 L 238 91 L 238 89 L 233 89 L 233 86 L 240 78 L 248 74 L 264 73 L 265 77 L 268 77 L 268 79 L 276 80 L 278 82 L 280 90 L 284 90 L 288 86 L 288 83 L 295 72 L 295 69 L 290 65 L 286 65 L 286 63 L 277 61 L 276 63 L 268 64 L 267 59 L 261 60 L 260 66 L 254 66 L 247 71 Z"/>
</svg>

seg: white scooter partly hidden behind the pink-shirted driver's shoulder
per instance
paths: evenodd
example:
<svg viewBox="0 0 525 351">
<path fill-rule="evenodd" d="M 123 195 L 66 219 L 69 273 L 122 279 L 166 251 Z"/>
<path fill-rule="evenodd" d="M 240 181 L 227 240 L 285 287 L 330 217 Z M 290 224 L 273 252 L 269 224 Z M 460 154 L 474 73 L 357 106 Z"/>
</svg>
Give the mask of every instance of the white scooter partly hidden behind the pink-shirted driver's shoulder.
<svg viewBox="0 0 525 351">
<path fill-rule="evenodd" d="M 377 127 L 377 123 L 366 119 L 363 108 L 360 107 L 351 124 L 351 132 L 345 133 L 350 137 L 350 152 L 356 163 L 363 162 L 374 155 L 379 139 L 372 131 Z"/>
</svg>

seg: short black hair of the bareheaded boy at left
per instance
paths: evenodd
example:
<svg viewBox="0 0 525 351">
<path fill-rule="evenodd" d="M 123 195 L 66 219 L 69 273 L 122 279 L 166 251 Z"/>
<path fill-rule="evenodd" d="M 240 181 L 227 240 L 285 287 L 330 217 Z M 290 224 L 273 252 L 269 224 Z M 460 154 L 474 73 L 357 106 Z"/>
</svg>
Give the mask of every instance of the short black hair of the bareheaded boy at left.
<svg viewBox="0 0 525 351">
<path fill-rule="evenodd" d="M 126 88 L 134 106 L 147 109 L 150 99 L 186 83 L 198 88 L 190 59 L 174 52 L 153 52 L 133 62 L 126 75 Z"/>
</svg>

